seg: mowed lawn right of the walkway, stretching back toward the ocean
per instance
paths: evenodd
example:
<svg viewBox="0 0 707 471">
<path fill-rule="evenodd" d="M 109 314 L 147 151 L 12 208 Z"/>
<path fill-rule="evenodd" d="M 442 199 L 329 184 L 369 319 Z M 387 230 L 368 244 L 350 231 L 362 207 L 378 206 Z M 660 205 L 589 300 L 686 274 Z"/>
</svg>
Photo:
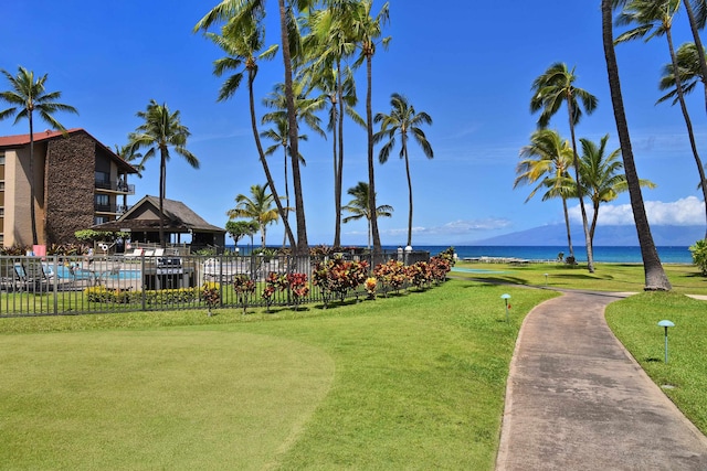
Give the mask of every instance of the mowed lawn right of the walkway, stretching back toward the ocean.
<svg viewBox="0 0 707 471">
<path fill-rule="evenodd" d="M 642 265 L 598 264 L 594 274 L 585 267 L 561 265 L 481 265 L 457 264 L 466 269 L 487 269 L 488 274 L 457 272 L 453 275 L 482 279 L 486 282 L 516 282 L 525 286 L 546 285 L 552 288 L 598 291 L 632 291 L 624 300 L 606 308 L 606 321 L 616 338 L 643 370 L 683 410 L 703 433 L 707 435 L 707 301 L 685 295 L 707 295 L 707 278 L 695 266 L 666 265 L 665 272 L 673 285 L 671 292 L 643 292 L 645 275 Z M 671 320 L 668 363 L 665 364 L 665 331 L 661 320 Z"/>
</svg>

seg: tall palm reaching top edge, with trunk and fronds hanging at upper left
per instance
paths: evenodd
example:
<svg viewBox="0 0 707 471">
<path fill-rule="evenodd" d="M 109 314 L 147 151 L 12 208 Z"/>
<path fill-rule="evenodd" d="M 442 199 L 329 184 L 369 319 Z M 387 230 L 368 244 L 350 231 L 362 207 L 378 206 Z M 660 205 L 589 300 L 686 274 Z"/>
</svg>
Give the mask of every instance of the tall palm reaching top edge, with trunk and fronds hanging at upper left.
<svg viewBox="0 0 707 471">
<path fill-rule="evenodd" d="M 285 96 L 287 101 L 287 120 L 289 126 L 289 142 L 294 156 L 299 154 L 299 144 L 297 142 L 297 118 L 295 116 L 295 104 L 293 94 L 293 68 L 292 68 L 292 50 L 291 34 L 296 22 L 292 21 L 293 10 L 302 11 L 310 7 L 313 0 L 292 0 L 291 8 L 285 7 L 285 0 L 277 0 L 279 14 L 279 38 L 283 53 L 283 63 L 285 66 Z M 218 6 L 211 9 L 194 26 L 194 31 L 208 30 L 218 21 L 225 21 L 232 24 L 260 22 L 265 13 L 265 0 L 222 0 Z M 268 182 L 270 184 L 270 182 Z M 308 255 L 309 247 L 307 244 L 307 227 L 305 220 L 304 200 L 302 195 L 302 179 L 299 174 L 299 162 L 293 159 L 293 184 L 295 190 L 295 214 L 297 218 L 297 245 L 296 251 L 300 255 Z M 274 191 L 274 186 L 271 186 Z M 277 199 L 276 199 L 277 200 Z M 294 245 L 293 245 L 294 246 Z"/>
</svg>

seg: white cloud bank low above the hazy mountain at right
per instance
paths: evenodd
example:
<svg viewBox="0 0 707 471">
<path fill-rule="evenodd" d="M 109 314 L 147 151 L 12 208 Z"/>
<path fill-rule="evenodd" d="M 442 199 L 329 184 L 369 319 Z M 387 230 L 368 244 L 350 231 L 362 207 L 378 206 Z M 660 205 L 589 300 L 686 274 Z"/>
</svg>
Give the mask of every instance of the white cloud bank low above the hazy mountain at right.
<svg viewBox="0 0 707 471">
<path fill-rule="evenodd" d="M 592 210 L 584 202 L 587 217 L 591 221 Z M 645 201 L 648 223 L 656 226 L 696 226 L 705 224 L 705 203 L 696 196 L 687 196 L 674 202 Z M 581 223 L 579 203 L 569 208 L 570 220 Z M 599 208 L 598 225 L 627 226 L 633 225 L 633 210 L 630 204 L 602 204 Z"/>
</svg>

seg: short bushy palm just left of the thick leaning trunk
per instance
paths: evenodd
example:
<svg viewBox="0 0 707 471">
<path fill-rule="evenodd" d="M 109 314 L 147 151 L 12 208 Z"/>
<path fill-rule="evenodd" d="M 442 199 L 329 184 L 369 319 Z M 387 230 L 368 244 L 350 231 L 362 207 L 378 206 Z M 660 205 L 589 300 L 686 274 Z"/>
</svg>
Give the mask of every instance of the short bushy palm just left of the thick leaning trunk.
<svg viewBox="0 0 707 471">
<path fill-rule="evenodd" d="M 606 154 L 606 141 L 609 141 L 609 135 L 601 138 L 599 146 L 589 139 L 580 139 L 582 147 L 579 171 L 580 184 L 582 185 L 582 193 L 589 195 L 594 211 L 589 227 L 592 247 L 600 204 L 614 201 L 620 193 L 629 190 L 626 175 L 622 172 L 621 149 L 615 149 Z M 639 184 L 651 189 L 655 188 L 655 183 L 650 180 L 641 179 Z"/>
</svg>

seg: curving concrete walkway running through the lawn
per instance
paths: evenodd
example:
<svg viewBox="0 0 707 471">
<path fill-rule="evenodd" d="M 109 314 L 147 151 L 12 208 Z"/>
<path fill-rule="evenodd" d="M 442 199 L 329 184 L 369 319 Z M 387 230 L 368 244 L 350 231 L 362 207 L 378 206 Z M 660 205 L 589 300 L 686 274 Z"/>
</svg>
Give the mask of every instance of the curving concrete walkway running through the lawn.
<svg viewBox="0 0 707 471">
<path fill-rule="evenodd" d="M 707 438 L 604 321 L 604 307 L 625 296 L 566 292 L 527 315 L 497 470 L 707 470 Z"/>
</svg>

